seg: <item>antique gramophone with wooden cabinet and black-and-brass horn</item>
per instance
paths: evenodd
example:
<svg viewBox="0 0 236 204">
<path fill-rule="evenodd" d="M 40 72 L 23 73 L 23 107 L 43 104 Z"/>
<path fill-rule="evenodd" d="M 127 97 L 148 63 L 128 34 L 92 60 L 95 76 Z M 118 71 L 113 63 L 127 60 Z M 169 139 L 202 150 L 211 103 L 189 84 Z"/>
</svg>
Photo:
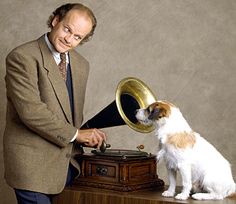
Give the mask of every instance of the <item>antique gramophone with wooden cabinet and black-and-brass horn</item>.
<svg viewBox="0 0 236 204">
<path fill-rule="evenodd" d="M 134 77 L 124 78 L 117 86 L 115 100 L 81 129 L 128 125 L 135 131 L 149 133 L 155 127 L 139 123 L 135 112 L 156 100 L 144 82 Z M 142 145 L 139 147 L 139 150 L 109 149 L 110 145 L 103 142 L 100 150 L 78 155 L 75 158 L 81 165 L 81 175 L 74 185 L 124 192 L 162 188 L 164 182 L 156 173 L 156 156 L 141 151 Z"/>
</svg>

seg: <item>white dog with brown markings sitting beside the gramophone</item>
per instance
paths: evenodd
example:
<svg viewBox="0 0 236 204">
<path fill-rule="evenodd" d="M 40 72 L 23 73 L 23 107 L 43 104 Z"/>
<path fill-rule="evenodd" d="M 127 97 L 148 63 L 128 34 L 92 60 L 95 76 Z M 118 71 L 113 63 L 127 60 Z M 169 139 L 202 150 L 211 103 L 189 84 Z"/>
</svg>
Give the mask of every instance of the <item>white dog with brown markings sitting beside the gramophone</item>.
<svg viewBox="0 0 236 204">
<path fill-rule="evenodd" d="M 191 191 L 192 198 L 197 200 L 220 200 L 235 193 L 229 162 L 191 129 L 179 108 L 167 101 L 157 101 L 137 110 L 136 118 L 144 125 L 156 126 L 160 142 L 157 160 L 166 162 L 169 177 L 169 188 L 163 196 L 175 196 L 177 171 L 183 189 L 176 199 L 186 200 Z"/>
</svg>

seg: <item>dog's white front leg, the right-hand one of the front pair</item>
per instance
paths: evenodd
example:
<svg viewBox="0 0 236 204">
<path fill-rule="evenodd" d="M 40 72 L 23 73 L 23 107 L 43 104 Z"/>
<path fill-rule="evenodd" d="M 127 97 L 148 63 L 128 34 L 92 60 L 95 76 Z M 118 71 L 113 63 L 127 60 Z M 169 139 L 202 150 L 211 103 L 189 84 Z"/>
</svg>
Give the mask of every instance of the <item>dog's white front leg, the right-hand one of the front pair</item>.
<svg viewBox="0 0 236 204">
<path fill-rule="evenodd" d="M 190 191 L 192 189 L 191 180 L 191 165 L 183 164 L 179 167 L 179 171 L 182 177 L 182 192 L 175 196 L 178 200 L 186 200 L 189 197 Z"/>
</svg>

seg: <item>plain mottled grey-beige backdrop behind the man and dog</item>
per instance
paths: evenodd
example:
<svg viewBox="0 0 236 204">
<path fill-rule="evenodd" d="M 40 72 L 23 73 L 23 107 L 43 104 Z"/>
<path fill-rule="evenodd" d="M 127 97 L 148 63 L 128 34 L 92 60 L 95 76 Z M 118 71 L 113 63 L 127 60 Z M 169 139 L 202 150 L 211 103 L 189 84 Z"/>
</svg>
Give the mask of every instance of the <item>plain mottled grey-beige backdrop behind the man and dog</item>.
<svg viewBox="0 0 236 204">
<path fill-rule="evenodd" d="M 236 1 L 81 2 L 92 8 L 98 19 L 93 40 L 78 48 L 91 65 L 85 120 L 114 100 L 121 79 L 137 77 L 159 99 L 180 107 L 192 128 L 230 161 L 236 178 Z M 0 1 L 1 144 L 6 112 L 5 57 L 15 46 L 47 32 L 48 16 L 62 3 L 65 1 Z M 157 151 L 153 133 L 137 133 L 127 126 L 104 130 L 113 148 L 136 149 L 144 144 L 147 152 Z M 16 203 L 3 179 L 2 145 L 0 155 L 0 202 Z M 158 174 L 168 183 L 163 164 Z"/>
</svg>

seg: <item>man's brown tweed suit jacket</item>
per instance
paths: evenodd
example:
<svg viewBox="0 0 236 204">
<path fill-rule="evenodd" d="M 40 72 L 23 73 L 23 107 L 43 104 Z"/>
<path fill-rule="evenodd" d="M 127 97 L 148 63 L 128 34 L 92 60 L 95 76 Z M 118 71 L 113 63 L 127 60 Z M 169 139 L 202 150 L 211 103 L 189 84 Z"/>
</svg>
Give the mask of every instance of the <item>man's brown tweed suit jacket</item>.
<svg viewBox="0 0 236 204">
<path fill-rule="evenodd" d="M 13 188 L 56 194 L 63 190 L 74 153 L 70 142 L 82 123 L 88 62 L 69 52 L 74 125 L 69 96 L 44 36 L 6 59 L 5 179 Z"/>
</svg>

